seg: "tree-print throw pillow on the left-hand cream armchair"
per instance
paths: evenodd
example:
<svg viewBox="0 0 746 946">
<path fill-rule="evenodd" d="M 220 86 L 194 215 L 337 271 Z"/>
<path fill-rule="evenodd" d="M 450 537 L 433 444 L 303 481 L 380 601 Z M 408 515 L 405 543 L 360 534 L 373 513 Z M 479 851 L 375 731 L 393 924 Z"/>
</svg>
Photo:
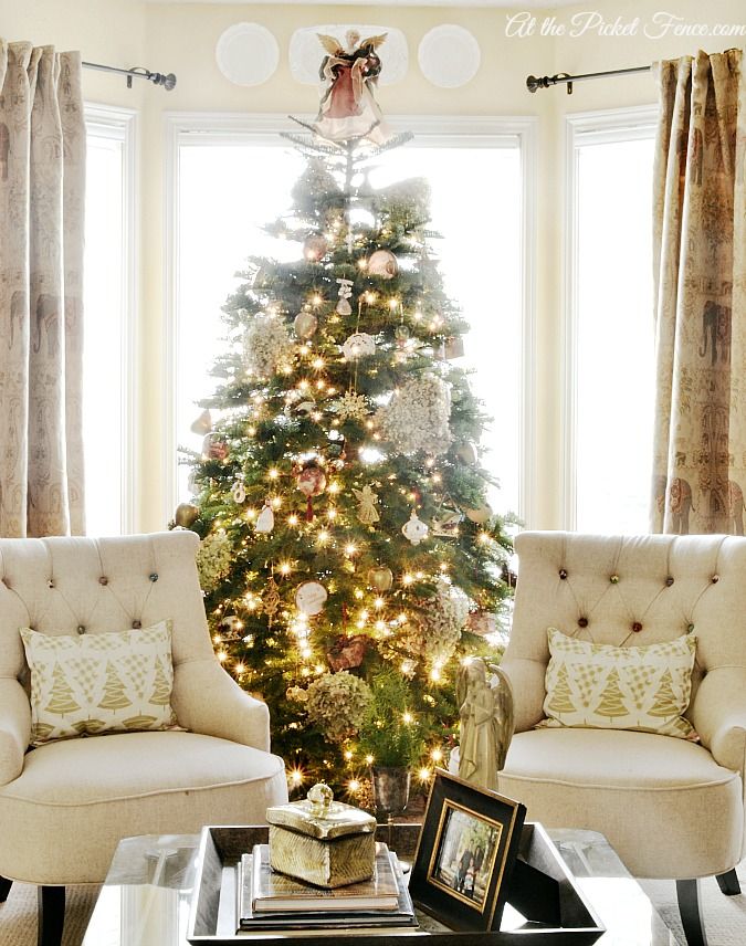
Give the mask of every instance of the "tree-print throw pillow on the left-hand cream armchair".
<svg viewBox="0 0 746 946">
<path fill-rule="evenodd" d="M 81 635 L 21 628 L 21 638 L 31 670 L 32 746 L 176 723 L 170 621 Z"/>
</svg>

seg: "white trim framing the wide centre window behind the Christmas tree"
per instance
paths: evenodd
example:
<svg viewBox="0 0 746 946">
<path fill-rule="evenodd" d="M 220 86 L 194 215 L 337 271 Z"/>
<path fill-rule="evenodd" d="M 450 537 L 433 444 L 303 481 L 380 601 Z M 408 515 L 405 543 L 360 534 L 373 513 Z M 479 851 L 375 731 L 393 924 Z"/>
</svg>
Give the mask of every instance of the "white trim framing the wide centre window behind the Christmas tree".
<svg viewBox="0 0 746 946">
<path fill-rule="evenodd" d="M 313 116 L 301 116 L 313 120 Z M 164 453 L 161 472 L 164 487 L 164 522 L 174 515 L 177 500 L 177 466 L 174 462 L 178 449 L 176 434 L 176 401 L 178 382 L 178 202 L 179 146 L 186 140 L 220 144 L 275 145 L 279 132 L 298 132 L 298 126 L 286 115 L 246 115 L 242 113 L 216 114 L 212 112 L 167 113 L 165 120 L 164 172 Z M 530 527 L 536 508 L 536 473 L 532 458 L 536 448 L 536 233 L 537 221 L 537 128 L 534 116 L 387 116 L 395 130 L 410 130 L 418 144 L 442 147 L 460 144 L 467 147 L 507 147 L 508 138 L 518 139 L 522 155 L 523 195 L 521 233 L 523 359 L 521 365 L 521 483 L 517 513 Z M 479 209 L 475 208 L 475 212 Z"/>
</svg>

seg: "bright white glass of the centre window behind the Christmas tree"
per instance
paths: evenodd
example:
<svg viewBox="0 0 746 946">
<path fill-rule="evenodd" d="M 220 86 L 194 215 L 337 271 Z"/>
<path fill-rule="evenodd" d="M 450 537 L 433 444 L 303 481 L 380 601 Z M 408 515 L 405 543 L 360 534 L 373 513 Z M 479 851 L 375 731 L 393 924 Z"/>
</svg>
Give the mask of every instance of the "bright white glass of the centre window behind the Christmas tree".
<svg viewBox="0 0 746 946">
<path fill-rule="evenodd" d="M 427 177 L 431 186 L 431 241 L 445 291 L 471 325 L 465 356 L 471 383 L 495 420 L 483 437 L 484 463 L 501 481 L 491 496 L 500 512 L 518 509 L 522 265 L 521 149 L 423 147 L 410 144 L 381 156 L 371 182 Z M 178 191 L 177 442 L 199 451 L 191 430 L 198 401 L 210 396 L 210 369 L 224 351 L 220 307 L 249 254 L 281 256 L 262 231 L 290 203 L 304 166 L 284 144 L 181 144 Z M 454 185 L 458 182 L 458 186 Z M 287 259 L 297 256 L 288 245 Z M 178 474 L 179 500 L 190 495 L 188 467 Z"/>
</svg>

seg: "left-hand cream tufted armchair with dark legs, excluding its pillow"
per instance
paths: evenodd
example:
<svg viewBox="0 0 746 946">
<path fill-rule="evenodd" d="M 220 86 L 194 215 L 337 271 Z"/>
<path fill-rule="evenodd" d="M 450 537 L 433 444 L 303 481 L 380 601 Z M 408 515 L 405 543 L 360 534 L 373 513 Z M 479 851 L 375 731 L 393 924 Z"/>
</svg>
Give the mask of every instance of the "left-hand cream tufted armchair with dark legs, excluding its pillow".
<svg viewBox="0 0 746 946">
<path fill-rule="evenodd" d="M 223 671 L 195 566 L 198 537 L 0 539 L 0 886 L 40 885 L 40 943 L 60 942 L 64 885 L 101 883 L 119 839 L 264 823 L 287 799 L 266 706 Z M 113 733 L 27 751 L 19 628 L 96 634 L 172 621 L 171 705 L 185 730 Z"/>
</svg>

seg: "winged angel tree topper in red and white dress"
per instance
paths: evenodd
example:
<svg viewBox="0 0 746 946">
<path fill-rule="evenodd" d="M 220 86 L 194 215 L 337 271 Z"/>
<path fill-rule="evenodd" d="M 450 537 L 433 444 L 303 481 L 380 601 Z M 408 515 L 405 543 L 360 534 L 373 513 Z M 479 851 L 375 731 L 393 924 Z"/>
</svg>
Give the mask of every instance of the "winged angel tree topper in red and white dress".
<svg viewBox="0 0 746 946">
<path fill-rule="evenodd" d="M 336 143 L 367 138 L 375 145 L 383 145 L 391 132 L 382 120 L 374 88 L 381 71 L 376 50 L 386 33 L 360 40 L 357 30 L 348 30 L 345 46 L 324 33 L 318 39 L 328 55 L 319 70 L 325 86 L 313 126 L 315 132 Z"/>
</svg>

